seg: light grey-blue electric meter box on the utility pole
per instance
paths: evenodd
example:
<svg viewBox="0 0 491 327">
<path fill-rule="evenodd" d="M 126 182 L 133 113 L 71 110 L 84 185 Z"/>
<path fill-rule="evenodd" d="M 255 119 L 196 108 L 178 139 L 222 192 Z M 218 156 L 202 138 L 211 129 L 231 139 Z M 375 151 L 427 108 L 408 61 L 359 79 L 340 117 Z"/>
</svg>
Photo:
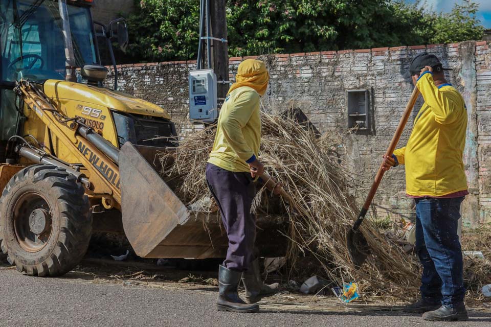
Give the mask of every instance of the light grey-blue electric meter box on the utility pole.
<svg viewBox="0 0 491 327">
<path fill-rule="evenodd" d="M 213 69 L 189 72 L 189 119 L 213 123 L 218 118 Z"/>
</svg>

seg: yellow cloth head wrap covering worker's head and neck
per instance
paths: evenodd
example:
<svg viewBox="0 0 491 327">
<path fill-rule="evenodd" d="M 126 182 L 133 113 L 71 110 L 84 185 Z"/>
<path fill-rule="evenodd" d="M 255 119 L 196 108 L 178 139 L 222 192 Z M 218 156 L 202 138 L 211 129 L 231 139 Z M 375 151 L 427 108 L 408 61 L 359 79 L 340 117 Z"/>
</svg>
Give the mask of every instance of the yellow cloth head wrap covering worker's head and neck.
<svg viewBox="0 0 491 327">
<path fill-rule="evenodd" d="M 267 72 L 264 61 L 245 59 L 240 63 L 237 69 L 237 75 L 235 75 L 235 83 L 232 84 L 227 95 L 236 88 L 249 86 L 255 89 L 262 97 L 266 92 L 269 81 L 270 74 Z"/>
</svg>

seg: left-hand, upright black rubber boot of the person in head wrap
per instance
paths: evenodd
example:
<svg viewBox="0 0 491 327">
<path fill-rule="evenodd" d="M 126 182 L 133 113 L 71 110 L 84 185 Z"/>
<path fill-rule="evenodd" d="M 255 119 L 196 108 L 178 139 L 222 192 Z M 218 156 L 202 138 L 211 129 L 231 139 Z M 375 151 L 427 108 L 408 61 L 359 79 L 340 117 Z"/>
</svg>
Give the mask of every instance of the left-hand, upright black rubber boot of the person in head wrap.
<svg viewBox="0 0 491 327">
<path fill-rule="evenodd" d="M 248 304 L 242 301 L 237 293 L 240 282 L 241 271 L 227 269 L 220 265 L 218 268 L 218 300 L 216 309 L 218 311 L 233 312 L 258 312 L 257 304 Z"/>
</svg>

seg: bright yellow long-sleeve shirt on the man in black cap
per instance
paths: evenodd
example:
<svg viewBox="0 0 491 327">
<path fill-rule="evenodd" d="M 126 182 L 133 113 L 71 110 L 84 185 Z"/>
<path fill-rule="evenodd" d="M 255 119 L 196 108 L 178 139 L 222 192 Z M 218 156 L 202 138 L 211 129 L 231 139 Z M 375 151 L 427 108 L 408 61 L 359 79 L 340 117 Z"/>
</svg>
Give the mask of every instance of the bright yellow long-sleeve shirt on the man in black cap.
<svg viewBox="0 0 491 327">
<path fill-rule="evenodd" d="M 416 86 L 425 103 L 416 116 L 406 147 L 394 151 L 399 164 L 406 165 L 406 193 L 444 196 L 465 191 L 464 99 L 450 84 L 437 87 L 430 72 L 423 73 Z"/>
</svg>

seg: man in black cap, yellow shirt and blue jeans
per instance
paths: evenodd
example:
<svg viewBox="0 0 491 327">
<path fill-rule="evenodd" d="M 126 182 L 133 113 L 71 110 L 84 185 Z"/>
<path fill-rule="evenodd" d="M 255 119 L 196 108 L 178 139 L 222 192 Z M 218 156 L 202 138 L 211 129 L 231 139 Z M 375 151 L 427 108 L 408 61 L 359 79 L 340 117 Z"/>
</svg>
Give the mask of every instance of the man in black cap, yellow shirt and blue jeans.
<svg viewBox="0 0 491 327">
<path fill-rule="evenodd" d="M 423 319 L 432 321 L 468 319 L 457 235 L 460 204 L 468 194 L 462 160 L 467 110 L 443 71 L 435 55 L 422 53 L 412 60 L 413 83 L 425 103 L 407 145 L 384 156 L 384 170 L 406 166 L 406 193 L 416 201 L 421 299 L 406 312 L 423 313 Z"/>
</svg>

